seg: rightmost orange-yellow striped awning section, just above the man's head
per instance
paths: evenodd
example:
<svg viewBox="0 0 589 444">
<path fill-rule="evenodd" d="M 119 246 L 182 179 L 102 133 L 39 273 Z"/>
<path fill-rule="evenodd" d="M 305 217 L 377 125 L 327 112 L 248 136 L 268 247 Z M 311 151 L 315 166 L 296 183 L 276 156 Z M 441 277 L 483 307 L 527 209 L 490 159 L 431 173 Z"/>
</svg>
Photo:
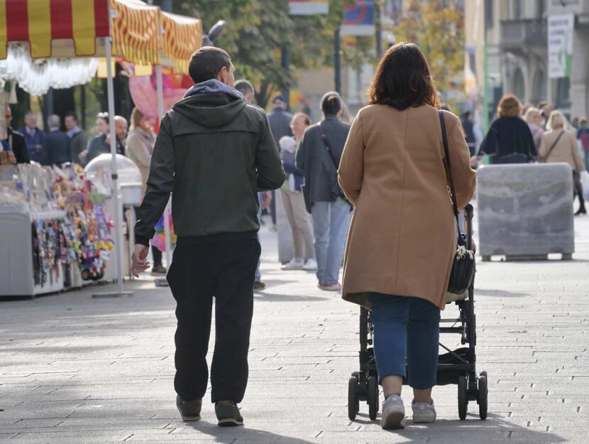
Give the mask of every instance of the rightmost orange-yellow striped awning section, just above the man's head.
<svg viewBox="0 0 589 444">
<path fill-rule="evenodd" d="M 162 46 L 176 72 L 188 72 L 190 56 L 202 45 L 202 21 L 162 12 Z"/>
</svg>

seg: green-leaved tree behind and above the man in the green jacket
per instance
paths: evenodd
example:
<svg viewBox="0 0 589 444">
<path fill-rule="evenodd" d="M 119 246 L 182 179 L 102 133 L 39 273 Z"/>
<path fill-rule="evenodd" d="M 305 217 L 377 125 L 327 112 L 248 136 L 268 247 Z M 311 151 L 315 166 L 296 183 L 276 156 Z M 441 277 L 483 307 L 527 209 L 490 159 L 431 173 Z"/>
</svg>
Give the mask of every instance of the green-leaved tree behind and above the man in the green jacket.
<svg viewBox="0 0 589 444">
<path fill-rule="evenodd" d="M 253 82 L 256 100 L 265 107 L 275 92 L 293 85 L 292 72 L 333 66 L 334 30 L 346 1 L 330 0 L 329 14 L 316 16 L 290 16 L 287 0 L 182 0 L 177 6 L 182 13 L 201 17 L 204 30 L 220 19 L 227 21 L 217 44 L 231 54 L 238 75 Z M 344 60 L 368 59 L 368 46 L 364 42 L 343 48 Z M 291 72 L 282 68 L 282 48 L 290 51 Z"/>
</svg>

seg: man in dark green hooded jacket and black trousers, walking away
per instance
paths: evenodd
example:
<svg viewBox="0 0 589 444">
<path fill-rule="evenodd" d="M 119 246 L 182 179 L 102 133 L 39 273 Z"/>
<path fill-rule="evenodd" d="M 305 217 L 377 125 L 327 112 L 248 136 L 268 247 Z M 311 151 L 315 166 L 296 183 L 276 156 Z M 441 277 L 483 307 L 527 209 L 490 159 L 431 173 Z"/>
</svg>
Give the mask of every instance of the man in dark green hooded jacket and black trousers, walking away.
<svg viewBox="0 0 589 444">
<path fill-rule="evenodd" d="M 173 193 L 176 404 L 185 421 L 200 419 L 214 296 L 211 399 L 219 426 L 238 426 L 260 257 L 257 193 L 280 188 L 285 173 L 265 113 L 233 89 L 229 55 L 200 48 L 189 74 L 196 85 L 165 114 L 155 141 L 131 271 L 148 269 L 149 239 Z"/>
</svg>

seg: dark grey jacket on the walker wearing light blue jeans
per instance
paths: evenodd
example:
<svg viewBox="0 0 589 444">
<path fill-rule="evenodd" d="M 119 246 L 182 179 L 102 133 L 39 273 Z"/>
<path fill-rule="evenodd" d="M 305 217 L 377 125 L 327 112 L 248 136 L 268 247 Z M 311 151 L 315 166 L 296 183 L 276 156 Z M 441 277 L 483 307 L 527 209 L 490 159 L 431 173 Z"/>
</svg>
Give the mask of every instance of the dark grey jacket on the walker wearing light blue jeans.
<svg viewBox="0 0 589 444">
<path fill-rule="evenodd" d="M 343 123 L 337 117 L 327 117 L 321 121 L 321 128 L 339 165 L 350 125 Z M 297 167 L 304 171 L 306 199 L 310 204 L 334 201 L 333 191 L 338 183 L 338 173 L 321 139 L 319 124 L 309 126 L 304 132 L 299 151 L 297 151 Z"/>
</svg>

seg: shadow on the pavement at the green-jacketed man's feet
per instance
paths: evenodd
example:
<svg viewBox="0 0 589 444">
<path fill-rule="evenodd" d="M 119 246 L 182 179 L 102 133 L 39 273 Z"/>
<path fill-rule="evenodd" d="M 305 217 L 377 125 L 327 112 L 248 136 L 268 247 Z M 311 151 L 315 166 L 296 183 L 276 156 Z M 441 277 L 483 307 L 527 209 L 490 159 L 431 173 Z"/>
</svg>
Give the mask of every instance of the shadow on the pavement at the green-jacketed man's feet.
<svg viewBox="0 0 589 444">
<path fill-rule="evenodd" d="M 223 428 L 214 423 L 207 423 L 205 421 L 187 423 L 186 425 L 204 435 L 214 437 L 216 443 L 230 444 L 237 440 L 238 443 L 252 444 L 312 444 L 312 441 L 292 438 L 285 435 L 277 435 L 276 433 L 261 431 L 255 428 L 248 428 L 247 425 L 243 427 Z"/>
</svg>

